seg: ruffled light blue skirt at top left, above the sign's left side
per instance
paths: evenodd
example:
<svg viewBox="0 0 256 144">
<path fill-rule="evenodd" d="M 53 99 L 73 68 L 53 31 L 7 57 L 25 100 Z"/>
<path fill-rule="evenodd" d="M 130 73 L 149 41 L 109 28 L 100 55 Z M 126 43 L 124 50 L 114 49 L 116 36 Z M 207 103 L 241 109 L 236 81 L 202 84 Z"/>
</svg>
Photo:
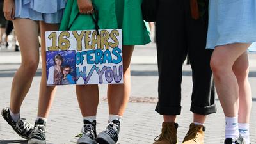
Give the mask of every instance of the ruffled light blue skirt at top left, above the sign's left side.
<svg viewBox="0 0 256 144">
<path fill-rule="evenodd" d="M 15 17 L 58 24 L 66 3 L 67 0 L 15 0 Z"/>
</svg>

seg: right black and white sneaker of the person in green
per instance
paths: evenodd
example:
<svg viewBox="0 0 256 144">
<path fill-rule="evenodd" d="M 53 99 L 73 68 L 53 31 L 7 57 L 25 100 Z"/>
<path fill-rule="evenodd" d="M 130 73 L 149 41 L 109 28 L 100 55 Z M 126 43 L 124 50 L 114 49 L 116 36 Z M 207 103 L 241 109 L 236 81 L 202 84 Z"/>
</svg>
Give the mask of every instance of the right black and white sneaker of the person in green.
<svg viewBox="0 0 256 144">
<path fill-rule="evenodd" d="M 100 132 L 96 138 L 99 144 L 115 144 L 118 141 L 118 134 L 120 130 L 120 121 L 113 120 L 109 122 L 107 128 Z"/>
</svg>

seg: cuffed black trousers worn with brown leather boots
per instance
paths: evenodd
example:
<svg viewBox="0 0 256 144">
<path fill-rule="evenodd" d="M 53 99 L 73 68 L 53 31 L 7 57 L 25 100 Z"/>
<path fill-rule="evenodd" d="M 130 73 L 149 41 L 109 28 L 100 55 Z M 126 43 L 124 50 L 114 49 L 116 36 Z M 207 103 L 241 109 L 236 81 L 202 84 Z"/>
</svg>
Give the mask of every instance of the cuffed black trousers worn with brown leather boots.
<svg viewBox="0 0 256 144">
<path fill-rule="evenodd" d="M 159 0 L 156 20 L 159 102 L 161 115 L 180 115 L 182 65 L 189 54 L 193 92 L 191 111 L 200 115 L 216 113 L 210 59 L 205 49 L 208 13 L 191 18 L 189 0 Z"/>
</svg>

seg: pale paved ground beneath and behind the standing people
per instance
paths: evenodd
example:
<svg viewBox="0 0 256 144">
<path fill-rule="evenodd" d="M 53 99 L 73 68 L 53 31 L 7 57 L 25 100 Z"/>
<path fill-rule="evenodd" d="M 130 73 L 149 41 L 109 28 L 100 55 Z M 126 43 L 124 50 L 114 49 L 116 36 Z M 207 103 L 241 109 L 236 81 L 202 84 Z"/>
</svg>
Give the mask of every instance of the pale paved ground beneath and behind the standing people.
<svg viewBox="0 0 256 144">
<path fill-rule="evenodd" d="M 252 115 L 250 122 L 251 143 L 256 143 L 256 54 L 250 54 L 250 77 L 252 86 Z M 0 108 L 9 106 L 12 77 L 20 65 L 20 52 L 13 49 L 0 49 Z M 35 122 L 41 68 L 38 67 L 32 86 L 21 108 L 21 116 L 31 124 Z M 182 113 L 178 116 L 179 143 L 189 129 L 193 115 L 189 111 L 191 103 L 191 68 L 183 67 L 182 77 Z M 156 44 L 137 46 L 131 61 L 131 98 L 122 118 L 120 144 L 154 143 L 161 132 L 163 118 L 154 109 L 157 102 L 157 60 Z M 223 143 L 225 119 L 219 100 L 216 98 L 218 112 L 207 117 L 205 122 L 205 143 Z M 102 131 L 108 122 L 108 104 L 106 85 L 100 85 L 100 102 L 97 111 L 97 132 Z M 48 144 L 74 144 L 75 137 L 83 126 L 74 86 L 59 86 L 51 113 L 47 121 Z M 0 117 L 0 143 L 27 143 L 20 138 Z"/>
</svg>

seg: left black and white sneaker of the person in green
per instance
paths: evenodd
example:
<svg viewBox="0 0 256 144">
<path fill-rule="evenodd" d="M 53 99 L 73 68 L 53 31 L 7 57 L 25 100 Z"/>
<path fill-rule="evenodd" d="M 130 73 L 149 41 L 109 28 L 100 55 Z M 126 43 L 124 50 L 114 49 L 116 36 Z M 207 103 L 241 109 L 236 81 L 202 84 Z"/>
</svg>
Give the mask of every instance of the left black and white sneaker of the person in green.
<svg viewBox="0 0 256 144">
<path fill-rule="evenodd" d="M 96 120 L 90 122 L 84 120 L 84 125 L 81 131 L 81 136 L 79 136 L 76 141 L 77 144 L 97 144 L 96 138 Z"/>
</svg>

